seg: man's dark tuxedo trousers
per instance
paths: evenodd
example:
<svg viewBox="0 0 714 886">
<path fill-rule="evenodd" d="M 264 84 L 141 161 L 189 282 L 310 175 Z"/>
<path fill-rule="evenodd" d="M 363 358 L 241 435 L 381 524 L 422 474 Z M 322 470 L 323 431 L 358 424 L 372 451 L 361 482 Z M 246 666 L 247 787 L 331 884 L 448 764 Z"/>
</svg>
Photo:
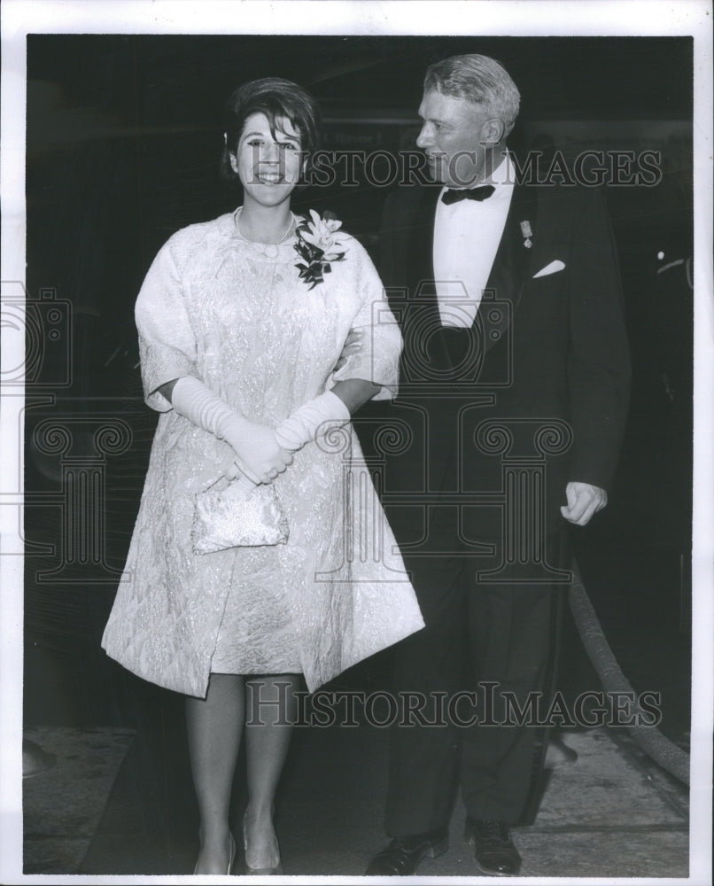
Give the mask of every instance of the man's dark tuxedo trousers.
<svg viewBox="0 0 714 886">
<path fill-rule="evenodd" d="M 414 537 L 399 520 L 392 528 L 400 545 Z M 385 816 L 392 836 L 446 827 L 457 783 L 473 818 L 532 820 L 547 744 L 538 722 L 553 692 L 568 587 L 524 583 L 522 571 L 512 584 L 502 571 L 498 583 L 477 580 L 501 564 L 499 546 L 494 556 L 470 556 L 447 521 L 432 532 L 430 548 L 451 553 L 402 550 L 426 626 L 393 650 L 393 690 L 412 714 L 392 727 Z M 562 563 L 563 535 L 547 542 L 552 565 Z"/>
</svg>

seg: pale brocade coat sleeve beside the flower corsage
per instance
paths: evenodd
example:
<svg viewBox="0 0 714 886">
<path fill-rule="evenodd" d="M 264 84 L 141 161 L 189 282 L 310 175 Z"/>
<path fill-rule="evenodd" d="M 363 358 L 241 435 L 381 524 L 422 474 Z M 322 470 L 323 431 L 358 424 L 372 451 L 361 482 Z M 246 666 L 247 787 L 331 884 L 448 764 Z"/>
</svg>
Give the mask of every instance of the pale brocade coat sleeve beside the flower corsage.
<svg viewBox="0 0 714 886">
<path fill-rule="evenodd" d="M 362 378 L 380 390 L 373 400 L 391 400 L 399 384 L 401 333 L 384 294 L 384 286 L 372 260 L 356 240 L 350 245 L 354 285 L 361 307 L 354 316 L 352 330 L 361 333 L 361 347 L 349 354 L 345 364 L 330 376 L 328 386 L 346 378 Z"/>
</svg>

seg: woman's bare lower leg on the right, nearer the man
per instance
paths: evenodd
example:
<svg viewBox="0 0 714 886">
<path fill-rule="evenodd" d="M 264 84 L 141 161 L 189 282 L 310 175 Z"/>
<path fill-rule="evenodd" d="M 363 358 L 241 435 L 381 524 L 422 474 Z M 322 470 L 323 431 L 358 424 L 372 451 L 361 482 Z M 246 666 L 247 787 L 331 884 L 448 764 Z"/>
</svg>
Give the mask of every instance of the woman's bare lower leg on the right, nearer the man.
<svg viewBox="0 0 714 886">
<path fill-rule="evenodd" d="M 246 681 L 251 691 L 246 715 L 245 753 L 248 768 L 248 806 L 245 810 L 245 863 L 253 868 L 276 867 L 280 862 L 273 804 L 297 714 L 295 692 L 301 680 L 283 674 Z"/>
</svg>

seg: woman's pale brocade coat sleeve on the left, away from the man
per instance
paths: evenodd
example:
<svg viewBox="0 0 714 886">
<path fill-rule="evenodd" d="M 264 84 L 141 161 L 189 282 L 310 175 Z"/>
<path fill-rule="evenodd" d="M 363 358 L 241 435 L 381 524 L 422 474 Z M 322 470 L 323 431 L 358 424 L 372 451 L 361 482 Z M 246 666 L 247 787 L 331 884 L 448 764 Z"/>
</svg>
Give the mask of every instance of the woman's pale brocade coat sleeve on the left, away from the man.
<svg viewBox="0 0 714 886">
<path fill-rule="evenodd" d="M 157 390 L 182 376 L 198 377 L 196 336 L 190 323 L 182 276 L 176 266 L 176 235 L 161 247 L 136 299 L 144 400 L 158 412 L 171 403 Z"/>
</svg>

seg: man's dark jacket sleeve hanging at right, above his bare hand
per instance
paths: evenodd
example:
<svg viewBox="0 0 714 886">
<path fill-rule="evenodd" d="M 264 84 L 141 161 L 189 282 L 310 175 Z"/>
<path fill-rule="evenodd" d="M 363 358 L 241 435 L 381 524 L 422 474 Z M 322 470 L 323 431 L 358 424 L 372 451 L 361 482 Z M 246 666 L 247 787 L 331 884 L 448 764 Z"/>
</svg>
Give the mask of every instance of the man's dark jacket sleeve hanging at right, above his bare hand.
<svg viewBox="0 0 714 886">
<path fill-rule="evenodd" d="M 573 229 L 570 278 L 570 479 L 608 489 L 625 432 L 631 370 L 617 251 L 597 191 L 586 192 Z"/>
</svg>

